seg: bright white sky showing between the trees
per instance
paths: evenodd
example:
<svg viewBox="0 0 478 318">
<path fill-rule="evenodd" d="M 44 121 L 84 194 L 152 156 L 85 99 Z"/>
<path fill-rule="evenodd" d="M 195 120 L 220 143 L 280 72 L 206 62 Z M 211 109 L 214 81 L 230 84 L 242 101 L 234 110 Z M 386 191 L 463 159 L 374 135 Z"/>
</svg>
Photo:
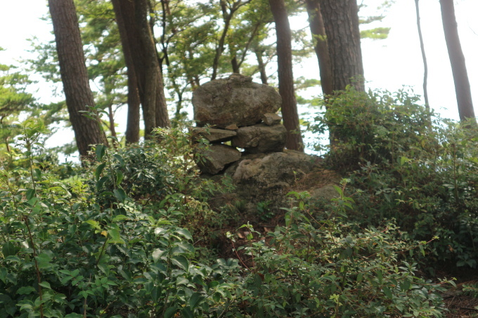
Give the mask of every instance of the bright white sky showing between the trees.
<svg viewBox="0 0 478 318">
<path fill-rule="evenodd" d="M 38 37 L 53 39 L 51 25 L 40 18 L 46 15 L 46 0 L 0 0 L 0 52 L 1 64 L 20 65 L 16 60 L 32 58 L 27 53 L 27 39 Z M 380 3 L 381 0 L 373 0 Z M 366 0 L 366 3 L 370 0 Z M 460 40 L 467 62 L 468 76 L 474 104 L 478 104 L 478 12 L 477 0 L 458 0 L 456 16 Z M 446 51 L 438 0 L 421 0 L 422 32 L 428 60 L 428 95 L 431 107 L 442 117 L 458 119 L 455 88 Z M 292 18 L 292 24 L 306 22 L 303 17 Z M 366 80 L 371 88 L 396 91 L 403 85 L 413 86 L 422 95 L 423 66 L 415 20 L 415 1 L 396 0 L 380 26 L 392 27 L 388 39 L 362 41 L 363 65 Z M 317 61 L 311 58 L 295 69 L 295 76 L 318 78 Z M 37 84 L 35 96 L 49 102 L 53 96 L 51 86 Z M 320 92 L 319 92 L 320 93 Z M 478 110 L 478 107 L 475 107 Z M 121 121 L 118 119 L 118 121 Z M 118 131 L 124 130 L 119 128 Z M 63 133 L 65 137 L 65 133 Z M 70 134 L 72 138 L 72 133 Z M 57 138 L 57 137 L 54 137 Z M 60 138 L 60 136 L 58 136 Z M 61 144 L 60 140 L 51 143 Z"/>
</svg>

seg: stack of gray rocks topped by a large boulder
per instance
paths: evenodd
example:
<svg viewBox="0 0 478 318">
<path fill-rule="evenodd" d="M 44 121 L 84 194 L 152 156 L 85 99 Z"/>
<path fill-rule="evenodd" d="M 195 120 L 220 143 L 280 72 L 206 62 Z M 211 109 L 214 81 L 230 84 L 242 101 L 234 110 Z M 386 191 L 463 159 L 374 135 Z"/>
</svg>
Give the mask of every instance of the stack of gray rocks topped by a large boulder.
<svg viewBox="0 0 478 318">
<path fill-rule="evenodd" d="M 271 86 L 232 74 L 197 88 L 192 102 L 197 123 L 193 138 L 211 143 L 200 151 L 202 173 L 219 174 L 243 154 L 283 152 L 286 130 L 276 114 L 282 101 Z"/>
</svg>

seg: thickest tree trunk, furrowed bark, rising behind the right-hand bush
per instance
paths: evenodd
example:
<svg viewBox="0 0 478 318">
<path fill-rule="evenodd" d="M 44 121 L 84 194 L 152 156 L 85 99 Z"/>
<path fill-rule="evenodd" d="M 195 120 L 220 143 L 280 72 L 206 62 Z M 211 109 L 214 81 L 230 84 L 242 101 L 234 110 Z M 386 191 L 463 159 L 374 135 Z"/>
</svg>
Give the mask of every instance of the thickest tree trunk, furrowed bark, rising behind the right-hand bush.
<svg viewBox="0 0 478 318">
<path fill-rule="evenodd" d="M 356 0 L 320 0 L 320 8 L 327 34 L 332 91 L 342 91 L 350 84 L 357 91 L 365 91 Z"/>
</svg>

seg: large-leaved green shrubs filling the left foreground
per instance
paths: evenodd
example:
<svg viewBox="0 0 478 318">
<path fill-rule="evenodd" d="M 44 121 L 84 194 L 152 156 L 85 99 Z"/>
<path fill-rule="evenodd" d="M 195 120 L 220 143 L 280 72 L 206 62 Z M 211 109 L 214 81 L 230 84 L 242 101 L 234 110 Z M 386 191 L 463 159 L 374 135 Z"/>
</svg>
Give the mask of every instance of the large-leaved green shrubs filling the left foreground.
<svg viewBox="0 0 478 318">
<path fill-rule="evenodd" d="M 156 180 L 138 180 L 125 191 L 134 183 L 124 183 L 122 173 L 131 161 L 103 145 L 96 147 L 98 164 L 84 180 L 59 180 L 42 171 L 33 147 L 40 146 L 43 129 L 25 123 L 20 139 L 29 164 L 1 171 L 0 316 L 218 317 L 231 289 L 221 278 L 228 272 L 221 264 L 234 262 L 197 263 L 193 237 L 180 226 L 180 220 L 204 210 L 193 197 L 201 185 L 187 188 L 195 171 L 182 170 L 190 168 L 190 159 L 174 152 L 186 147 L 179 146 L 186 134 L 176 131 L 171 133 L 176 139 L 166 141 L 171 136 L 163 133 L 163 143 L 178 148 L 162 154 L 169 159 L 160 157 L 164 166 Z M 176 193 L 170 188 L 163 194 L 166 204 L 127 194 L 145 195 L 151 182 L 157 187 L 172 182 L 158 181 L 162 178 L 179 186 Z"/>
</svg>

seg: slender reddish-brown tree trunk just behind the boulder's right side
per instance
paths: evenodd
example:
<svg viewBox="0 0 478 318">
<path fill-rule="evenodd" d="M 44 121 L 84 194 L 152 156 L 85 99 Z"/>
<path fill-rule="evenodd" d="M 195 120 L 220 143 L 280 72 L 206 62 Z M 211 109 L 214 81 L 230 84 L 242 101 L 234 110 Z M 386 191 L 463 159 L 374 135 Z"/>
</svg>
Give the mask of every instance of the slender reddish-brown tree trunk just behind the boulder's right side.
<svg viewBox="0 0 478 318">
<path fill-rule="evenodd" d="M 292 74 L 292 36 L 288 13 L 284 0 L 269 0 L 269 5 L 276 23 L 279 93 L 282 97 L 282 117 L 287 129 L 285 147 L 304 151 Z"/>
</svg>

